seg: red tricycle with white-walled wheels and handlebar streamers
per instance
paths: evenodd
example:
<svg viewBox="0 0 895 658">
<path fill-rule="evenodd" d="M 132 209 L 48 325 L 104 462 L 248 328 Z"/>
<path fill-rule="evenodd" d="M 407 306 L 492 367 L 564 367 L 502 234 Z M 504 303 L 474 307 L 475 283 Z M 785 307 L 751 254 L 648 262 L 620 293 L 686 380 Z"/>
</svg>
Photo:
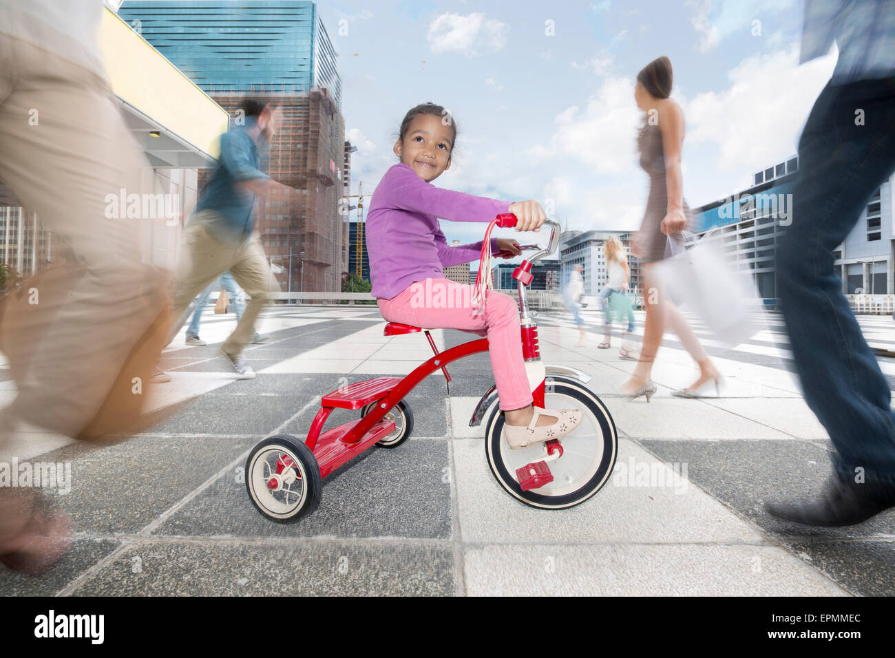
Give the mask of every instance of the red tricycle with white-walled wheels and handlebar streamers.
<svg viewBox="0 0 895 658">
<path fill-rule="evenodd" d="M 516 216 L 499 215 L 488 227 L 516 226 Z M 473 410 L 470 426 L 485 416 L 485 455 L 491 473 L 511 496 L 535 508 L 570 508 L 588 500 L 609 481 L 618 454 L 618 437 L 609 410 L 585 384 L 589 375 L 575 368 L 541 362 L 538 329 L 528 311 L 525 288 L 532 282 L 532 265 L 556 252 L 558 223 L 547 220 L 550 242 L 514 270 L 522 324 L 525 370 L 532 386 L 534 406 L 545 409 L 579 409 L 584 420 L 574 431 L 523 449 L 510 449 L 503 440 L 504 416 L 497 389 L 491 387 Z M 486 237 L 485 245 L 489 244 Z M 482 266 L 484 267 L 484 266 Z M 482 268 L 480 268 L 482 277 Z M 487 273 L 485 273 L 487 275 Z M 288 523 L 310 513 L 320 503 L 322 479 L 373 445 L 397 448 L 413 431 L 413 413 L 405 396 L 440 369 L 450 382 L 447 364 L 468 355 L 488 351 L 488 339 L 480 338 L 439 352 L 428 329 L 389 322 L 386 336 L 422 331 L 434 355 L 406 377 L 377 377 L 337 389 L 323 396 L 320 411 L 302 442 L 288 434 L 261 440 L 245 463 L 245 487 L 260 513 Z M 448 383 L 449 386 L 449 383 Z M 333 409 L 360 409 L 361 417 L 323 432 Z"/>
</svg>

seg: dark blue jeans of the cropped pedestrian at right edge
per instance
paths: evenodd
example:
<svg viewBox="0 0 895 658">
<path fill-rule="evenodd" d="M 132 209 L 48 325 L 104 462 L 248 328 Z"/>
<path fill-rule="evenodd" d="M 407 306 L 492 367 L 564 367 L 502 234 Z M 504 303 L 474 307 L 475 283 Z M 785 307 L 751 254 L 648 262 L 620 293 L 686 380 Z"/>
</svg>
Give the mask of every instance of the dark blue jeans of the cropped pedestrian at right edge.
<svg viewBox="0 0 895 658">
<path fill-rule="evenodd" d="M 861 468 L 865 483 L 886 488 L 895 486 L 891 392 L 842 295 L 833 250 L 895 170 L 892 126 L 895 78 L 824 88 L 799 140 L 792 225 L 777 252 L 789 346 L 805 402 L 838 451 L 833 467 L 853 478 Z"/>
</svg>

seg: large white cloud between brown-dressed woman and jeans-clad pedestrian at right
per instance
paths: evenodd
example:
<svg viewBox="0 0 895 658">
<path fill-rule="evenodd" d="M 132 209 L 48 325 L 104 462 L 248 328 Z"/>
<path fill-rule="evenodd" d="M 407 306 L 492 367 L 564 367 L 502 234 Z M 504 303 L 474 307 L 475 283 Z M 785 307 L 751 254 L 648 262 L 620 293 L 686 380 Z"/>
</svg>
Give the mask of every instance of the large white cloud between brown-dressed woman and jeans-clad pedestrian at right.
<svg viewBox="0 0 895 658">
<path fill-rule="evenodd" d="M 798 65 L 798 49 L 749 57 L 728 73 L 730 86 L 686 103 L 686 141 L 716 144 L 717 167 L 767 167 L 796 151 L 814 99 L 830 79 L 836 55 Z"/>
</svg>

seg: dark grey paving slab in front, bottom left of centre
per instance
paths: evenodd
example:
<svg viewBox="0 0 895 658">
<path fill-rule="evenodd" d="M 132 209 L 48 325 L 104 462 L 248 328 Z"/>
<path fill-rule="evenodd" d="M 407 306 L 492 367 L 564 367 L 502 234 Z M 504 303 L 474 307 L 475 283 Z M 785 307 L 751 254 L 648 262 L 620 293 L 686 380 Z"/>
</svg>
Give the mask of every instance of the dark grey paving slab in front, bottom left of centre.
<svg viewBox="0 0 895 658">
<path fill-rule="evenodd" d="M 140 560 L 136 573 L 133 558 Z M 445 596 L 454 590 L 454 556 L 446 545 L 149 543 L 129 546 L 74 595 Z"/>
</svg>

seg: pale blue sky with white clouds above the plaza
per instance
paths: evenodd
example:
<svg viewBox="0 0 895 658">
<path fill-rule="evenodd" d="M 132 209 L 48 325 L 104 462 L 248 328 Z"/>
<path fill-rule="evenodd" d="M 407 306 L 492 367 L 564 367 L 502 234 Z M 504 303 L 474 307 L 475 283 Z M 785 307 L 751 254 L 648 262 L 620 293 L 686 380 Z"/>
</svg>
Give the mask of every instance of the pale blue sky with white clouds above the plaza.
<svg viewBox="0 0 895 658">
<path fill-rule="evenodd" d="M 684 108 L 686 201 L 737 192 L 795 152 L 835 53 L 798 65 L 797 0 L 320 2 L 339 53 L 346 138 L 372 191 L 396 158 L 405 112 L 448 107 L 459 135 L 435 181 L 508 201 L 535 199 L 569 228 L 635 229 L 636 73 L 669 56 Z M 442 222 L 448 239 L 483 225 Z"/>
</svg>

